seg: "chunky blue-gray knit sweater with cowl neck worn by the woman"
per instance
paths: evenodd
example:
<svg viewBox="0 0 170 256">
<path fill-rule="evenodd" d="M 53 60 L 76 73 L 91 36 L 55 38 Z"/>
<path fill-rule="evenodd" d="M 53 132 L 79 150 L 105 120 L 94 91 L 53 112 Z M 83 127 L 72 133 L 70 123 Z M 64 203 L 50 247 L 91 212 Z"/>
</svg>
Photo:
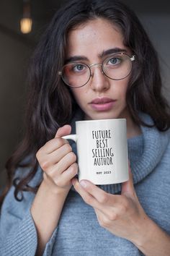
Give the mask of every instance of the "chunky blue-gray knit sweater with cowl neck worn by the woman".
<svg viewBox="0 0 170 256">
<path fill-rule="evenodd" d="M 151 123 L 149 116 L 143 119 Z M 135 191 L 150 218 L 170 234 L 170 132 L 141 127 L 143 134 L 128 140 L 128 154 Z M 73 150 L 75 145 L 73 144 Z M 31 184 L 40 182 L 39 168 Z M 120 184 L 100 186 L 120 193 Z M 37 233 L 30 214 L 35 195 L 24 192 L 24 200 L 14 200 L 12 187 L 4 200 L 0 219 L 0 255 L 33 256 Z M 43 225 L 43 223 L 42 223 Z M 91 206 L 86 205 L 72 188 L 68 193 L 61 219 L 46 244 L 43 256 L 137 256 L 142 253 L 126 239 L 114 236 L 99 226 Z"/>
</svg>

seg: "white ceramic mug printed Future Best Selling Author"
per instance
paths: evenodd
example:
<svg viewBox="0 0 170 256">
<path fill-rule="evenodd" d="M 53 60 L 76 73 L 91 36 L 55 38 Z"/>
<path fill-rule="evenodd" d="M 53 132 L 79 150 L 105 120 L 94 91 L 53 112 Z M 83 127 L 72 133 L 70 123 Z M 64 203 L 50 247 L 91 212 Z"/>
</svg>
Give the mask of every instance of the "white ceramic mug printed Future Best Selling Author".
<svg viewBox="0 0 170 256">
<path fill-rule="evenodd" d="M 76 121 L 76 135 L 63 138 L 76 142 L 79 181 L 116 184 L 129 179 L 126 119 Z"/>
</svg>

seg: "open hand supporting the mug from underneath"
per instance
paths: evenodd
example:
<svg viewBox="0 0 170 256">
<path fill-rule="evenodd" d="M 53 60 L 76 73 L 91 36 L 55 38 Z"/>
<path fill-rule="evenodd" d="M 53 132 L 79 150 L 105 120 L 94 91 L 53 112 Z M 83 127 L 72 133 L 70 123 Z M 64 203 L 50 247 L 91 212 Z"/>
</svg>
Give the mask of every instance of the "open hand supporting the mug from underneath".
<svg viewBox="0 0 170 256">
<path fill-rule="evenodd" d="M 84 201 L 94 208 L 100 226 L 116 236 L 138 243 L 150 220 L 138 201 L 130 171 L 129 174 L 129 181 L 122 184 L 121 195 L 108 194 L 86 180 L 79 183 L 73 179 L 72 182 Z"/>
</svg>

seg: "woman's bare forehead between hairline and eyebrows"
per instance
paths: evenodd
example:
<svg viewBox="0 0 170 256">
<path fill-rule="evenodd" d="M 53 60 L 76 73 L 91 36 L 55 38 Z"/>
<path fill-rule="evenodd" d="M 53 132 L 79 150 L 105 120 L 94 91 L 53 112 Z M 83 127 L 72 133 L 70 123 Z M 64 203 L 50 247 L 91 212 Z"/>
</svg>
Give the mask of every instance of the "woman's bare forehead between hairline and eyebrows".
<svg viewBox="0 0 170 256">
<path fill-rule="evenodd" d="M 90 20 L 68 33 L 66 56 L 97 56 L 109 48 L 125 48 L 120 28 L 98 18 Z M 128 49 L 127 49 L 128 50 Z"/>
</svg>

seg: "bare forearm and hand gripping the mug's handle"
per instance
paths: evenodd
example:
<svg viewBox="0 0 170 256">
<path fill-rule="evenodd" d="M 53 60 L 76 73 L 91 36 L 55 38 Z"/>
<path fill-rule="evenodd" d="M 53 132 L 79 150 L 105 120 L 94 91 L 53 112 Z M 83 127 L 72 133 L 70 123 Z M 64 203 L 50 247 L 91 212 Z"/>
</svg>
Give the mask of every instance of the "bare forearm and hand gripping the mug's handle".
<svg viewBox="0 0 170 256">
<path fill-rule="evenodd" d="M 64 202 L 72 185 L 71 179 L 78 171 L 76 155 L 68 141 L 62 138 L 70 133 L 69 125 L 59 128 L 55 138 L 37 151 L 43 180 L 31 207 L 38 237 L 36 255 L 43 254 L 45 244 L 58 226 Z"/>
</svg>

